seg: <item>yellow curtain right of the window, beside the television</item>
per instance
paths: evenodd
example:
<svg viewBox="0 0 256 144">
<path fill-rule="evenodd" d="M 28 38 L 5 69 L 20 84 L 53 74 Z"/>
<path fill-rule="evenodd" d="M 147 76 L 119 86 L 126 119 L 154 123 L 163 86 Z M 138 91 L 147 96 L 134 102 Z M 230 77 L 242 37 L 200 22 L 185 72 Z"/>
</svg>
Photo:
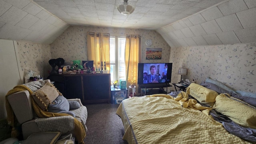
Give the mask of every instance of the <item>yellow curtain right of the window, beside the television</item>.
<svg viewBox="0 0 256 144">
<path fill-rule="evenodd" d="M 126 86 L 136 86 L 138 94 L 138 63 L 141 60 L 140 35 L 126 36 L 125 44 L 125 66 L 126 66 Z"/>
</svg>

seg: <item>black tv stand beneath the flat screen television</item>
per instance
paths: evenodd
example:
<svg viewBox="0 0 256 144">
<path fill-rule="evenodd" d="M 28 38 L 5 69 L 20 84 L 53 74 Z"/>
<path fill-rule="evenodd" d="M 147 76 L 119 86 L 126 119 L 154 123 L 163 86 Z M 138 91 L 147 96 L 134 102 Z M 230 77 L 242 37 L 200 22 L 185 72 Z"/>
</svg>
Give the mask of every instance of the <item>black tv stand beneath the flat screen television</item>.
<svg viewBox="0 0 256 144">
<path fill-rule="evenodd" d="M 168 87 L 170 87 L 169 83 L 154 83 L 154 84 L 139 84 L 139 87 L 144 89 L 144 95 L 151 95 L 151 94 L 167 94 Z M 147 90 L 151 88 L 150 90 Z M 153 89 L 153 88 L 159 88 L 159 89 Z M 166 91 L 164 90 L 166 88 Z M 143 95 L 143 94 L 142 94 Z"/>
</svg>

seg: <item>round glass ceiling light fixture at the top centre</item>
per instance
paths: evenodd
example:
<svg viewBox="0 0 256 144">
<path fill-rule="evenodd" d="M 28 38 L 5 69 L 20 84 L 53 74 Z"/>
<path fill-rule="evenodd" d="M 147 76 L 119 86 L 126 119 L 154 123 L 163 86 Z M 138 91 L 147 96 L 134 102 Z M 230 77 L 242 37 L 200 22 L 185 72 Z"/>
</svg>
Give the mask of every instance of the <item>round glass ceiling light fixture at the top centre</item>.
<svg viewBox="0 0 256 144">
<path fill-rule="evenodd" d="M 134 4 L 128 2 L 128 0 L 124 0 L 124 2 L 119 3 L 116 8 L 125 16 L 131 14 L 135 10 Z"/>
</svg>

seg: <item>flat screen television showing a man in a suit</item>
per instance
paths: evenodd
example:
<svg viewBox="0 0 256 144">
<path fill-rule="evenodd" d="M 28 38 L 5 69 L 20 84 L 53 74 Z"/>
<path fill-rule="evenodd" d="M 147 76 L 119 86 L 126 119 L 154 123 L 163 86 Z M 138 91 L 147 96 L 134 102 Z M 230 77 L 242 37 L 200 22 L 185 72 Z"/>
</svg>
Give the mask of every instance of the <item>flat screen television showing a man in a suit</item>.
<svg viewBox="0 0 256 144">
<path fill-rule="evenodd" d="M 169 84 L 172 77 L 172 63 L 139 63 L 138 84 Z"/>
</svg>

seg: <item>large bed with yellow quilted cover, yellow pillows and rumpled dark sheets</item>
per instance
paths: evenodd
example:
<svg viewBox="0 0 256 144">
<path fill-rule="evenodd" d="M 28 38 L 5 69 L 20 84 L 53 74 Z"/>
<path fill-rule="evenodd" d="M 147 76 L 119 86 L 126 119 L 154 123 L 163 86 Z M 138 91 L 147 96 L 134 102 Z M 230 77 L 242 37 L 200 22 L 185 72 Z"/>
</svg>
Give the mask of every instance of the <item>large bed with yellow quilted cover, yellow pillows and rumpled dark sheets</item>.
<svg viewBox="0 0 256 144">
<path fill-rule="evenodd" d="M 198 84 L 177 96 L 125 99 L 116 114 L 129 144 L 256 143 L 256 108 Z"/>
</svg>

